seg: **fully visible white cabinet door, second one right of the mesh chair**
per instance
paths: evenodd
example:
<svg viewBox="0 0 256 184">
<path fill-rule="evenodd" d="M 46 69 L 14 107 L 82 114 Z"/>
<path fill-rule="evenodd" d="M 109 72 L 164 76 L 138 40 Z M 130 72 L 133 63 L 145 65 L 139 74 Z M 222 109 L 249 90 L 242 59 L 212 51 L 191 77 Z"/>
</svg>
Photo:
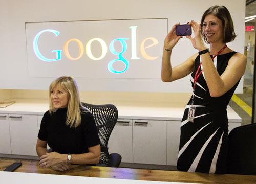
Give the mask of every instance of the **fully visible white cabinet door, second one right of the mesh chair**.
<svg viewBox="0 0 256 184">
<path fill-rule="evenodd" d="M 167 121 L 133 120 L 133 162 L 167 164 Z"/>
</svg>

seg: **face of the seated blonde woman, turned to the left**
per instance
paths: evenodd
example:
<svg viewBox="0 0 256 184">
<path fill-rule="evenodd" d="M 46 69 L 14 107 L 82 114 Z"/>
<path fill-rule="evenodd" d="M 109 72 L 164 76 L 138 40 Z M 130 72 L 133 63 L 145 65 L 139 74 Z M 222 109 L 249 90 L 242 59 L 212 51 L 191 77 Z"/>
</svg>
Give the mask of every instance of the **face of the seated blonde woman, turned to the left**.
<svg viewBox="0 0 256 184">
<path fill-rule="evenodd" d="M 69 94 L 60 85 L 56 85 L 51 90 L 51 101 L 55 109 L 68 106 Z"/>
</svg>

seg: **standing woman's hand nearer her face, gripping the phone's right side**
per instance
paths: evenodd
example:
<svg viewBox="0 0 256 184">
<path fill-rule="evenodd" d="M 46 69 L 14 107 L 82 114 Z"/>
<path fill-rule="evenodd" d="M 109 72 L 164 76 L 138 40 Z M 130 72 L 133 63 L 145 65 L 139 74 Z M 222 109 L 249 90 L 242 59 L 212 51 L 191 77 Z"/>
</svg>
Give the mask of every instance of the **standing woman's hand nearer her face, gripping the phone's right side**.
<svg viewBox="0 0 256 184">
<path fill-rule="evenodd" d="M 202 34 L 201 34 L 201 25 L 198 22 L 193 21 L 193 20 L 191 22 L 188 22 L 188 24 L 191 25 L 191 27 L 195 33 L 195 37 L 192 38 L 191 36 L 186 36 L 186 38 L 190 39 L 190 41 L 195 49 L 198 49 L 198 50 L 206 49 L 206 46 L 204 44 Z"/>
</svg>

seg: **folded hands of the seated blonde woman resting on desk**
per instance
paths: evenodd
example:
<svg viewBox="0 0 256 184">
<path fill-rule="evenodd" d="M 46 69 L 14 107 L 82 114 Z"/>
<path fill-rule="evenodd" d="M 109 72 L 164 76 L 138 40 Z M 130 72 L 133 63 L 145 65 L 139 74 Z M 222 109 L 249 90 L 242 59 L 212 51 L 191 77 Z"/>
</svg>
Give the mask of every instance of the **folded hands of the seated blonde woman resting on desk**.
<svg viewBox="0 0 256 184">
<path fill-rule="evenodd" d="M 47 168 L 59 163 L 66 163 L 67 156 L 57 152 L 46 153 L 40 157 L 39 166 Z"/>
</svg>

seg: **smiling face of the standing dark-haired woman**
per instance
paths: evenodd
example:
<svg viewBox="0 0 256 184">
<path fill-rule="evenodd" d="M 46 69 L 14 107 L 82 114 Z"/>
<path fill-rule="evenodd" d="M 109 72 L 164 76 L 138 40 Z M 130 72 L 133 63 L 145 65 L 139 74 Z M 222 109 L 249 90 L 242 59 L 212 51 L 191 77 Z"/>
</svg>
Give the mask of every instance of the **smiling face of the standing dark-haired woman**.
<svg viewBox="0 0 256 184">
<path fill-rule="evenodd" d="M 205 16 L 202 29 L 209 43 L 223 42 L 222 21 L 218 17 L 211 14 Z"/>
</svg>

